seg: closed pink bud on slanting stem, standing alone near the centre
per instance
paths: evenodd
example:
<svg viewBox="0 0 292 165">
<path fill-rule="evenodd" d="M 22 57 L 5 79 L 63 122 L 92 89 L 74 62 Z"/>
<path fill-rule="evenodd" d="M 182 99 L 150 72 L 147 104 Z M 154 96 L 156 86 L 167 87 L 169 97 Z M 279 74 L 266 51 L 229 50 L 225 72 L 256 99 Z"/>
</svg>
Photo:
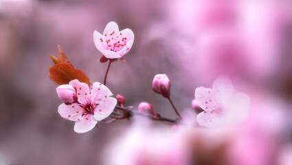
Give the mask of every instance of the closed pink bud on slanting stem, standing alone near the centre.
<svg viewBox="0 0 292 165">
<path fill-rule="evenodd" d="M 158 94 L 161 94 L 165 98 L 170 96 L 170 80 L 166 74 L 157 74 L 153 78 L 152 89 Z"/>
</svg>

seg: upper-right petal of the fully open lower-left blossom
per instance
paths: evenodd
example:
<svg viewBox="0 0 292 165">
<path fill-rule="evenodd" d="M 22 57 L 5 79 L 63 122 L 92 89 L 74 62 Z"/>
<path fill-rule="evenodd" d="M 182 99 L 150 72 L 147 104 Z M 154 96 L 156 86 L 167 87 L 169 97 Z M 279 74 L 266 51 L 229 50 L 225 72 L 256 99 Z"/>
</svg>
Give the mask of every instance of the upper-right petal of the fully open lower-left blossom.
<svg viewBox="0 0 292 165">
<path fill-rule="evenodd" d="M 96 103 L 102 103 L 102 100 L 113 96 L 109 88 L 107 88 L 102 83 L 95 82 L 92 84 L 91 88 L 91 100 Z"/>
</svg>

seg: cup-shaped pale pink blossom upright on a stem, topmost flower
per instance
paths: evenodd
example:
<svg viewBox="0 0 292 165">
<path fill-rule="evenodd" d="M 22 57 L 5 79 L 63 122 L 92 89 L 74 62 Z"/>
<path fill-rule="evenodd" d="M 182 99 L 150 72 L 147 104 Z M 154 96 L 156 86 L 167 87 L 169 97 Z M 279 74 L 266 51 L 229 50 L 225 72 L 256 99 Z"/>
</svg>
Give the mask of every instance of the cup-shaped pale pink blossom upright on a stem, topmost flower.
<svg viewBox="0 0 292 165">
<path fill-rule="evenodd" d="M 120 31 L 117 23 L 111 21 L 106 25 L 103 34 L 94 30 L 93 40 L 96 48 L 106 58 L 121 58 L 131 49 L 134 33 L 128 28 Z"/>
</svg>

